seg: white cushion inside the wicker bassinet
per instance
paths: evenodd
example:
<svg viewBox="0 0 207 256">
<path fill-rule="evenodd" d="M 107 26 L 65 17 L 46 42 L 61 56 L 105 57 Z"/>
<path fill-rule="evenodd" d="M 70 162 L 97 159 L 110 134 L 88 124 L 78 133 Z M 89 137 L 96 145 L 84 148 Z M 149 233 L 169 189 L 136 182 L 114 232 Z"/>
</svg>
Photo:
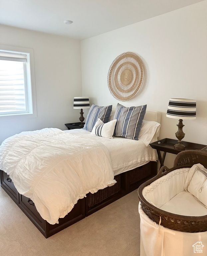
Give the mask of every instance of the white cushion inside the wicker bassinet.
<svg viewBox="0 0 207 256">
<path fill-rule="evenodd" d="M 184 189 L 207 207 L 207 169 L 202 164 L 190 168 Z"/>
</svg>

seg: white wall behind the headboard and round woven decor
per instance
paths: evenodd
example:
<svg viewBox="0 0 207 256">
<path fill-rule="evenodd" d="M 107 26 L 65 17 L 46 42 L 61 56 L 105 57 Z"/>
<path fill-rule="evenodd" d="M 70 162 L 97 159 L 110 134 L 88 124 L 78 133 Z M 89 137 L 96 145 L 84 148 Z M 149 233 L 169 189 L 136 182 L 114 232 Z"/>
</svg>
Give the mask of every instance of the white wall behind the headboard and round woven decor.
<svg viewBox="0 0 207 256">
<path fill-rule="evenodd" d="M 160 139 L 176 139 L 178 120 L 166 117 L 169 99 L 196 99 L 197 117 L 184 120 L 184 140 L 207 144 L 206 8 L 207 1 L 199 2 L 83 40 L 83 95 L 91 103 L 116 105 L 107 86 L 108 69 L 119 54 L 135 52 L 143 59 L 145 81 L 138 95 L 123 105 L 147 104 L 148 110 L 160 111 Z M 172 165 L 174 157 L 168 154 L 165 163 Z"/>
</svg>

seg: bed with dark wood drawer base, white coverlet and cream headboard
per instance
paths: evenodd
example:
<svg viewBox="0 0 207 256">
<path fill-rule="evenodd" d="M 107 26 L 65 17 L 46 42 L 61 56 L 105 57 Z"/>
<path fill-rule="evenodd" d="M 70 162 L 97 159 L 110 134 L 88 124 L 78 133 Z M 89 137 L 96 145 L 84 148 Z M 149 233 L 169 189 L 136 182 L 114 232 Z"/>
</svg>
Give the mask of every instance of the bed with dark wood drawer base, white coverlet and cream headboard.
<svg viewBox="0 0 207 256">
<path fill-rule="evenodd" d="M 144 120 L 160 122 L 160 114 L 147 111 Z M 120 137 L 111 140 L 91 135 L 90 132 L 83 129 L 64 132 L 74 136 L 78 135 L 83 140 L 91 139 L 96 143 L 102 143 L 110 153 L 116 183 L 113 186 L 100 189 L 96 193 L 89 192 L 86 197 L 78 200 L 65 217 L 59 218 L 59 223 L 52 225 L 41 217 L 34 202 L 19 193 L 11 177 L 1 170 L 1 187 L 46 238 L 137 189 L 144 181 L 155 176 L 157 171 L 155 150 L 144 145 L 141 140 L 133 141 Z M 156 140 L 157 136 L 159 133 L 153 139 Z M 137 154 L 137 152 L 139 153 Z"/>
</svg>

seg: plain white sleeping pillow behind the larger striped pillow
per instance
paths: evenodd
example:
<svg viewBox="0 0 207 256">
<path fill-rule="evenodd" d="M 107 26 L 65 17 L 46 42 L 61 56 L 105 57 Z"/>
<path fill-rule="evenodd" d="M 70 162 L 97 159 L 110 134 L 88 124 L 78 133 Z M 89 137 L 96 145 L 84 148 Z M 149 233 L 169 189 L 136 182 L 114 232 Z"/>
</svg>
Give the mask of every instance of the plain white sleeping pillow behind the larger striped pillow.
<svg viewBox="0 0 207 256">
<path fill-rule="evenodd" d="M 159 130 L 160 124 L 158 122 L 143 120 L 138 140 L 141 140 L 144 145 L 148 147 L 149 143 L 157 141 L 157 134 Z"/>
</svg>

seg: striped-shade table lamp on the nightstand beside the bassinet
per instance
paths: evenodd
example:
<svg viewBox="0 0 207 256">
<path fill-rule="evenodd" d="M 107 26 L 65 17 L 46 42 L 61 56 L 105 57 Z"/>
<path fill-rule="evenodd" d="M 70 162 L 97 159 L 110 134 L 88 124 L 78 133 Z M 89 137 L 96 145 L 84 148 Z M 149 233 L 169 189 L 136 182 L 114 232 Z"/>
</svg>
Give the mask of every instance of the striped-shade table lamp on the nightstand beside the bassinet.
<svg viewBox="0 0 207 256">
<path fill-rule="evenodd" d="M 174 99 L 169 100 L 169 105 L 167 109 L 167 117 L 179 118 L 178 131 L 175 133 L 178 144 L 174 145 L 174 148 L 185 150 L 185 145 L 182 144 L 182 139 L 185 136 L 183 132 L 183 119 L 196 119 L 196 100 L 191 99 Z"/>
</svg>

